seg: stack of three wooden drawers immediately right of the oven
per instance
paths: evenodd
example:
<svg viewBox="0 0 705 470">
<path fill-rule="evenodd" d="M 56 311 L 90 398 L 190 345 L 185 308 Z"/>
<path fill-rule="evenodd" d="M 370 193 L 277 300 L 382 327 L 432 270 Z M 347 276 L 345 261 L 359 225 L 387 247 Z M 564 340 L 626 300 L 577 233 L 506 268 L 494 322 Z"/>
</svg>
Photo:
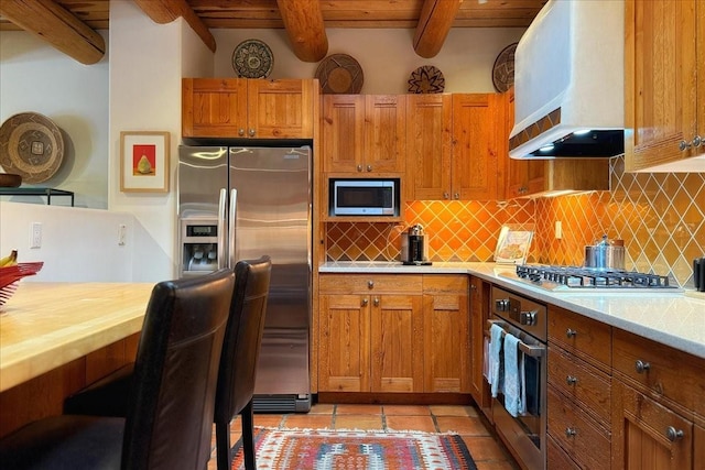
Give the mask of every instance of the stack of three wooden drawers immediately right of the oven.
<svg viewBox="0 0 705 470">
<path fill-rule="evenodd" d="M 570 458 L 576 468 L 605 468 L 610 459 L 611 327 L 549 306 L 549 468 Z M 553 461 L 552 459 L 558 459 Z"/>
</svg>

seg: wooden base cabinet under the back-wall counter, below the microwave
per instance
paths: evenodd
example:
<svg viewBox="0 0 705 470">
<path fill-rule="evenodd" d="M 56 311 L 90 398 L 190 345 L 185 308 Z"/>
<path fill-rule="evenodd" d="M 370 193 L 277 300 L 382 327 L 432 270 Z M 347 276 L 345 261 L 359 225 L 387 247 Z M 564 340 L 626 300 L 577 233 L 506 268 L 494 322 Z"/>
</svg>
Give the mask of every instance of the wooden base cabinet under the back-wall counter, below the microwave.
<svg viewBox="0 0 705 470">
<path fill-rule="evenodd" d="M 319 275 L 318 391 L 469 392 L 465 275 Z"/>
</svg>

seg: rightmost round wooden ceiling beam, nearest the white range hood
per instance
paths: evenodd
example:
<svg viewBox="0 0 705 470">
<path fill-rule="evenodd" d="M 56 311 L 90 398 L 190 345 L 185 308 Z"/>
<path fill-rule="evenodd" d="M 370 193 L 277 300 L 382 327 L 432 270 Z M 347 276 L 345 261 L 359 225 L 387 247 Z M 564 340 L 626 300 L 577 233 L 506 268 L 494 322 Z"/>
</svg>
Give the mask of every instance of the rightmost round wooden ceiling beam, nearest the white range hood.
<svg viewBox="0 0 705 470">
<path fill-rule="evenodd" d="M 425 58 L 435 57 L 443 47 L 463 0 L 425 0 L 414 34 L 414 51 Z"/>
</svg>

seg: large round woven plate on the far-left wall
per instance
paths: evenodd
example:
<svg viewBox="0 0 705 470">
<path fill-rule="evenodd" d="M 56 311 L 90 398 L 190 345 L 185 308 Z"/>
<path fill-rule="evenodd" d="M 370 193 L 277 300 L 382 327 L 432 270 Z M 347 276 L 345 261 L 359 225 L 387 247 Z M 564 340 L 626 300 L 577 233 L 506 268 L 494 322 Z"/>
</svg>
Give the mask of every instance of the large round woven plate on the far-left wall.
<svg viewBox="0 0 705 470">
<path fill-rule="evenodd" d="M 43 183 L 54 176 L 64 160 L 64 138 L 46 116 L 22 112 L 0 127 L 0 165 L 22 175 L 23 183 Z"/>
</svg>

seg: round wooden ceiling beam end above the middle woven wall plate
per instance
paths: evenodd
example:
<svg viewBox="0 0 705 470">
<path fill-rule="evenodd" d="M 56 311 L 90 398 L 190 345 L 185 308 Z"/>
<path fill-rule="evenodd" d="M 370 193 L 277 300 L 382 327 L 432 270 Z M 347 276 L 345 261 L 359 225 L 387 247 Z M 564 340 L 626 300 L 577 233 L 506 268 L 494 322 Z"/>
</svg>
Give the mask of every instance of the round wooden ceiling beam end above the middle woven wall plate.
<svg viewBox="0 0 705 470">
<path fill-rule="evenodd" d="M 276 0 L 296 57 L 318 62 L 328 52 L 328 36 L 318 0 Z"/>
</svg>

